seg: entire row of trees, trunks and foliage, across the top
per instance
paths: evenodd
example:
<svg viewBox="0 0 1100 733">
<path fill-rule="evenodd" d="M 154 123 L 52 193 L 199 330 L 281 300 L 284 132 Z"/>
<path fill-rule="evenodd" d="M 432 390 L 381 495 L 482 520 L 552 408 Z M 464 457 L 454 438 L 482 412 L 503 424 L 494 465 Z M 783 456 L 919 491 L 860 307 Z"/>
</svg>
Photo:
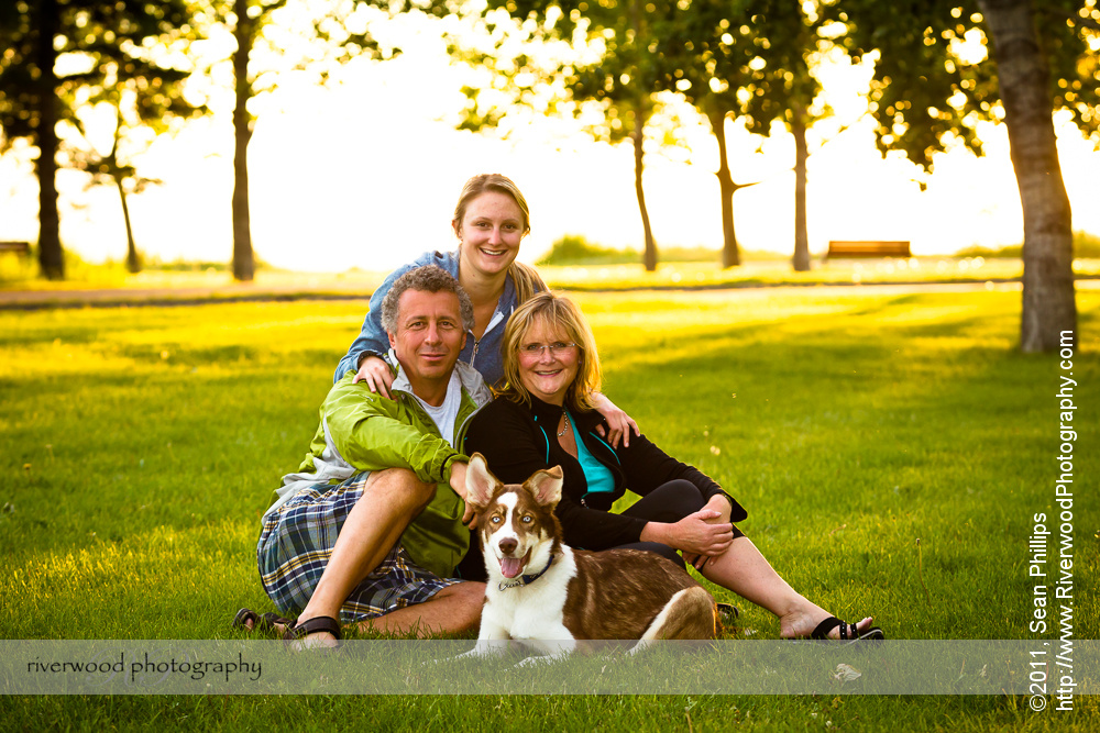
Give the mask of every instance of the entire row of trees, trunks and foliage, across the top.
<svg viewBox="0 0 1100 733">
<path fill-rule="evenodd" d="M 122 131 L 135 125 L 161 130 L 173 118 L 209 111 L 184 93 L 188 75 L 200 69 L 180 68 L 180 54 L 167 52 L 185 49 L 221 23 L 232 27 L 238 42 L 232 59 L 233 273 L 238 279 L 252 279 L 248 146 L 254 119 L 249 100 L 257 88 L 277 82 L 271 75 L 263 78 L 252 51 L 287 3 L 16 0 L 0 4 L 0 48 L 6 49 L 0 56 L 2 145 L 22 137 L 38 149 L 38 253 L 45 277 L 64 277 L 54 187 L 58 122 L 77 122 L 76 112 L 84 104 L 116 105 L 118 129 L 111 153 L 77 156 L 75 165 L 113 182 L 125 208 L 127 193 L 144 184 L 119 157 Z M 487 0 L 487 4 L 483 26 L 494 43 L 476 49 L 455 44 L 454 54 L 507 77 L 508 84 L 495 86 L 510 97 L 486 105 L 483 90 L 469 90 L 463 126 L 498 124 L 510 109 L 521 105 L 583 112 L 588 120 L 595 110 L 600 122 L 590 131 L 596 138 L 628 140 L 634 147 L 647 269 L 656 268 L 658 249 L 645 196 L 646 131 L 670 96 L 694 107 L 715 135 L 722 260 L 727 267 L 740 262 L 735 193 L 754 182 L 738 182 L 729 167 L 727 121 L 740 120 L 760 134 L 778 124 L 794 136 L 792 263 L 795 269 L 810 267 L 807 133 L 828 116 L 815 73 L 825 55 L 843 51 L 854 59 L 873 59 L 869 114 L 884 152 L 902 151 L 931 169 L 933 155 L 948 144 L 961 143 L 980 154 L 978 122 L 1005 123 L 1024 212 L 1021 346 L 1047 351 L 1056 346 L 1062 331 L 1076 332 L 1071 212 L 1053 114 L 1068 114 L 1085 134 L 1100 140 L 1100 64 L 1089 47 L 1100 32 L 1096 0 L 911 0 L 904 5 L 880 0 Z M 324 14 L 304 31 L 327 49 L 329 63 L 397 52 L 380 49 L 362 23 L 348 22 L 364 8 L 391 14 L 422 9 L 436 15 L 454 10 L 450 0 L 333 0 L 310 7 L 323 8 Z M 502 33 L 502 11 L 521 25 Z M 517 33 L 529 44 L 564 43 L 583 47 L 586 55 L 557 66 L 535 63 L 527 52 L 517 53 L 515 45 L 505 43 Z M 985 46 L 983 54 L 963 53 L 975 43 Z M 63 67 L 61 54 L 82 65 Z M 305 66 L 309 63 L 304 60 L 299 67 Z M 319 78 L 326 68 L 317 69 Z M 549 103 L 540 101 L 544 88 L 558 90 Z M 136 266 L 132 234 L 130 240 Z"/>
</svg>

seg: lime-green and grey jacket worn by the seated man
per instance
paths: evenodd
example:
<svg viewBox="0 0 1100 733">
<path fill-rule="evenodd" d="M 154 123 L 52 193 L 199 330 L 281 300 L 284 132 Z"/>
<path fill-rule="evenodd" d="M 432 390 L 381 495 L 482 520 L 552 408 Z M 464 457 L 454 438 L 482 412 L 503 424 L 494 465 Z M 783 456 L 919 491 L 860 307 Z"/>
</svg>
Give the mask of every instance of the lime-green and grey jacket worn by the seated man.
<svg viewBox="0 0 1100 733">
<path fill-rule="evenodd" d="M 391 362 L 397 359 L 391 355 Z M 481 375 L 459 362 L 454 366 L 462 386 L 462 403 L 454 423 L 454 440 L 462 444 L 470 419 L 493 399 Z M 451 464 L 464 456 L 442 438 L 398 367 L 388 400 L 364 384 L 352 384 L 348 371 L 332 386 L 320 409 L 320 424 L 301 466 L 283 477 L 271 513 L 299 489 L 327 481 L 340 484 L 364 470 L 411 469 L 421 481 L 436 482 L 436 496 L 405 530 L 402 545 L 418 565 L 440 577 L 454 567 L 470 546 L 470 531 L 462 524 L 464 504 L 449 482 Z"/>
</svg>

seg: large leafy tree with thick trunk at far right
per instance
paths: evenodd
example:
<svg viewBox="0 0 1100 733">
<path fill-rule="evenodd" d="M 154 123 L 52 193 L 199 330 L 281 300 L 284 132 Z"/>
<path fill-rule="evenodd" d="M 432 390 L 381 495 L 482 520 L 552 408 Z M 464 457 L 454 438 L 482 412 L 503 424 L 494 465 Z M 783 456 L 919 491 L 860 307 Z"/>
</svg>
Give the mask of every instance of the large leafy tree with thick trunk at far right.
<svg viewBox="0 0 1100 733">
<path fill-rule="evenodd" d="M 872 113 L 883 149 L 930 168 L 948 140 L 981 154 L 977 122 L 1003 122 L 1024 214 L 1020 345 L 1054 351 L 1077 331 L 1071 211 L 1053 113 L 1100 133 L 1094 0 L 842 0 L 854 51 L 877 49 Z M 992 53 L 987 44 L 992 41 Z M 987 46 L 983 48 L 983 46 Z"/>
</svg>

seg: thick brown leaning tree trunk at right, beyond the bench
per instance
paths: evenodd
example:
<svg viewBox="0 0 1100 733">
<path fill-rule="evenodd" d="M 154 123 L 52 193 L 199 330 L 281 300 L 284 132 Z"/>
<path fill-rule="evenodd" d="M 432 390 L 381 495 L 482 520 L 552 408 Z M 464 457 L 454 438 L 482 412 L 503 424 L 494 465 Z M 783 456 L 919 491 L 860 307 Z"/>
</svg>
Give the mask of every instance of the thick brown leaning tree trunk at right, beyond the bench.
<svg viewBox="0 0 1100 733">
<path fill-rule="evenodd" d="M 978 0 L 993 42 L 1009 149 L 1024 213 L 1020 347 L 1056 351 L 1077 341 L 1074 233 L 1058 163 L 1050 73 L 1028 0 Z"/>
</svg>

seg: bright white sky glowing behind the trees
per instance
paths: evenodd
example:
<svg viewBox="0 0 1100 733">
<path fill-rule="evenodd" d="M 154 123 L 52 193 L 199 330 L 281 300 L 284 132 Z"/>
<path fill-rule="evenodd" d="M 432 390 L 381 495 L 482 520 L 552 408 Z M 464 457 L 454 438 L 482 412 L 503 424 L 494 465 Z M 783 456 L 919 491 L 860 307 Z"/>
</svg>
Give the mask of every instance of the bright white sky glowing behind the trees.
<svg viewBox="0 0 1100 733">
<path fill-rule="evenodd" d="M 284 85 L 256 100 L 249 148 L 252 234 L 261 258 L 298 270 L 388 269 L 430 248 L 454 245 L 450 218 L 462 184 L 479 173 L 516 181 L 531 207 L 532 232 L 521 259 L 534 260 L 566 233 L 604 246 L 639 248 L 634 154 L 566 135 L 536 122 L 509 141 L 453 130 L 463 73 L 438 41 L 417 31 L 406 53 L 383 64 L 353 64 L 342 85 Z M 855 120 L 866 71 L 837 68 L 829 100 Z M 230 108 L 231 109 L 231 108 Z M 729 124 L 736 180 L 765 182 L 735 197 L 743 247 L 789 256 L 793 249 L 794 142 L 777 134 L 762 152 Z M 1022 240 L 1019 192 L 1003 125 L 983 134 L 987 157 L 957 151 L 941 156 L 921 192 L 916 169 L 883 160 L 869 120 L 812 155 L 809 164 L 810 247 L 833 238 L 910 240 L 915 254 L 950 253 L 971 244 Z M 658 248 L 722 243 L 717 146 L 690 127 L 686 154 L 647 155 L 646 197 Z M 106 147 L 109 147 L 107 145 Z M 813 151 L 813 146 L 811 147 Z M 136 159 L 158 178 L 130 201 L 140 249 L 163 259 L 226 262 L 232 253 L 231 112 L 189 123 Z M 1100 154 L 1071 127 L 1059 129 L 1059 154 L 1074 206 L 1074 229 L 1100 233 Z M 37 186 L 30 151 L 0 158 L 0 240 L 37 236 Z M 62 236 L 66 247 L 99 262 L 122 259 L 125 232 L 117 192 L 85 191 L 84 174 L 63 170 Z"/>
</svg>

